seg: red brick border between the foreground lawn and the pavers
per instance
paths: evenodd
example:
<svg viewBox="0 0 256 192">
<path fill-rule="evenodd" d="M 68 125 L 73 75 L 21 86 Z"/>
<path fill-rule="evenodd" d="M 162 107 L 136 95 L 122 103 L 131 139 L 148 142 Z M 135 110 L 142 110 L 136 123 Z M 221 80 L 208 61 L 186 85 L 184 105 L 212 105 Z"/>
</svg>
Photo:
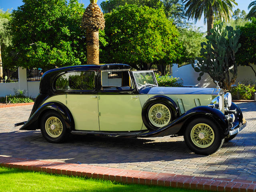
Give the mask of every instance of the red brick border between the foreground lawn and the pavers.
<svg viewBox="0 0 256 192">
<path fill-rule="evenodd" d="M 116 180 L 122 183 L 171 186 L 176 188 L 222 192 L 256 192 L 256 182 L 248 180 L 196 177 L 4 156 L 0 156 L 0 166 L 54 174 Z"/>
</svg>

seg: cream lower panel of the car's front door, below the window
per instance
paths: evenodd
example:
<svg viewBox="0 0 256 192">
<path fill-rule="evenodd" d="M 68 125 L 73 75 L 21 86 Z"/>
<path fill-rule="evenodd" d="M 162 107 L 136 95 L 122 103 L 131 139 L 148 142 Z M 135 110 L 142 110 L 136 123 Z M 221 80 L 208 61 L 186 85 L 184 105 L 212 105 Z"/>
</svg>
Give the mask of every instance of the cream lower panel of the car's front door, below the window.
<svg viewBox="0 0 256 192">
<path fill-rule="evenodd" d="M 100 131 L 138 131 L 141 105 L 136 94 L 101 94 L 98 97 Z"/>
</svg>

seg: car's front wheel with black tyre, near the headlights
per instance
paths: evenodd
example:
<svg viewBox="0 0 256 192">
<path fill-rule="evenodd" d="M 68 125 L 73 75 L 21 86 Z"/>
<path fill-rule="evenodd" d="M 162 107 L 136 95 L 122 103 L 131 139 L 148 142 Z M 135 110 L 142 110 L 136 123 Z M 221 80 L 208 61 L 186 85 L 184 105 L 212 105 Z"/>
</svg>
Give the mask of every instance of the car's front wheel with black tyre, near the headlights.
<svg viewBox="0 0 256 192">
<path fill-rule="evenodd" d="M 187 146 L 196 154 L 210 155 L 218 151 L 224 138 L 213 121 L 198 118 L 190 122 L 184 133 Z"/>
</svg>

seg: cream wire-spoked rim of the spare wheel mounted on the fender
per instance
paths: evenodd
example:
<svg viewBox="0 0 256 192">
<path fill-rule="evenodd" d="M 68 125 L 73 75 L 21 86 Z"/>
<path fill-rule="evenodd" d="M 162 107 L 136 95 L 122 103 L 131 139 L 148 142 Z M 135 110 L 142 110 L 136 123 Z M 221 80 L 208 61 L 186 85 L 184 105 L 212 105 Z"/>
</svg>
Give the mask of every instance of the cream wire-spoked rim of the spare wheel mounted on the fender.
<svg viewBox="0 0 256 192">
<path fill-rule="evenodd" d="M 171 120 L 171 113 L 164 104 L 154 104 L 148 111 L 150 122 L 156 127 L 168 125 Z"/>
</svg>

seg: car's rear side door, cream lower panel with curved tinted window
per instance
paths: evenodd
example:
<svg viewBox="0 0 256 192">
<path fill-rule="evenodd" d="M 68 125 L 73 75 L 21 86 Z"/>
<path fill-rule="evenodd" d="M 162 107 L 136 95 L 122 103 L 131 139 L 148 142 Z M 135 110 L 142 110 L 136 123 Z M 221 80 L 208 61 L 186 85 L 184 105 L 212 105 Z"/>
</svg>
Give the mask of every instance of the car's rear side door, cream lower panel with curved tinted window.
<svg viewBox="0 0 256 192">
<path fill-rule="evenodd" d="M 56 85 L 66 90 L 66 106 L 74 118 L 75 130 L 99 131 L 95 71 L 67 72 L 56 80 Z"/>
</svg>

